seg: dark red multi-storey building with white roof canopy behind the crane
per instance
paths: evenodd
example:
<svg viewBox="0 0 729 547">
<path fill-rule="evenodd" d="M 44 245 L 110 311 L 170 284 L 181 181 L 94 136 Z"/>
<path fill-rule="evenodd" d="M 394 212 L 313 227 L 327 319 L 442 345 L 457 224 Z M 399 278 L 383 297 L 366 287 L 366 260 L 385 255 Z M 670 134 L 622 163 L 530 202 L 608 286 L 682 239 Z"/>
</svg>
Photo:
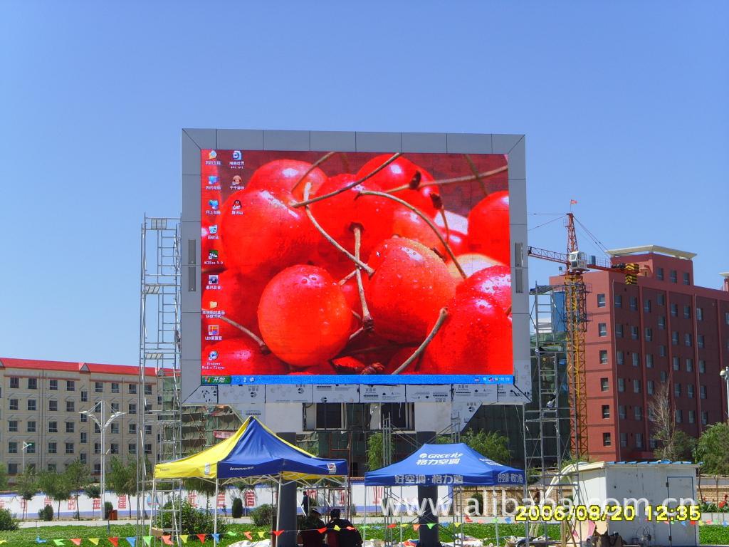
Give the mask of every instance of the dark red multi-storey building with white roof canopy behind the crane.
<svg viewBox="0 0 729 547">
<path fill-rule="evenodd" d="M 661 382 L 687 434 L 727 416 L 719 373 L 729 365 L 729 274 L 720 290 L 697 287 L 694 253 L 655 245 L 608 253 L 613 264 L 638 263 L 640 274 L 634 285 L 617 272 L 584 276 L 588 451 L 607 461 L 650 459 L 648 408 Z"/>
</svg>

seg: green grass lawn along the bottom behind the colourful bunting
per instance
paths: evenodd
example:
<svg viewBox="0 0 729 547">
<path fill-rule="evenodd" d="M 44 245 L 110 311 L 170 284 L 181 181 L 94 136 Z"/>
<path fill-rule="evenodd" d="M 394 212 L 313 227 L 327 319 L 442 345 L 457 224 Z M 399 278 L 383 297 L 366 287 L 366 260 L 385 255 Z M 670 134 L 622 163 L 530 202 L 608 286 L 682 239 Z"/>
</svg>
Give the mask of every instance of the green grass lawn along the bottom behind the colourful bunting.
<svg viewBox="0 0 729 547">
<path fill-rule="evenodd" d="M 44 544 L 44 547 L 56 547 L 55 543 L 52 542 L 54 539 L 66 539 L 70 538 L 107 538 L 109 535 L 112 537 L 117 536 L 118 538 L 126 538 L 136 534 L 135 526 L 133 524 L 114 524 L 112 525 L 112 533 L 106 532 L 106 527 L 90 527 L 90 526 L 76 526 L 69 524 L 67 526 L 52 526 L 42 528 L 23 528 L 15 530 L 14 532 L 0 532 L 0 540 L 7 540 L 7 543 L 3 544 L 3 547 L 39 547 L 36 543 L 36 537 L 40 537 L 44 540 L 48 540 L 48 543 Z M 488 541 L 494 541 L 496 538 L 496 529 L 494 524 L 464 524 L 461 527 L 467 535 L 472 535 L 474 538 L 484 539 L 488 538 Z M 451 528 L 453 529 L 453 528 Z M 220 538 L 218 547 L 226 547 L 230 543 L 241 541 L 246 539 L 243 537 L 243 532 L 258 532 L 259 530 L 265 530 L 262 527 L 255 527 L 252 524 L 228 524 L 227 530 L 235 532 L 238 535 L 233 537 L 230 535 L 224 535 Z M 364 534 L 367 539 L 383 537 L 383 529 L 367 529 Z M 394 538 L 399 540 L 400 529 L 394 529 Z M 550 525 L 547 529 L 550 538 L 558 539 L 559 537 L 559 526 L 557 524 Z M 499 536 L 504 538 L 509 535 L 523 535 L 524 527 L 523 524 L 499 524 Z M 402 538 L 410 539 L 417 538 L 417 532 L 413 531 L 412 528 L 402 529 Z M 729 527 L 707 525 L 699 528 L 699 538 L 702 545 L 729 545 Z M 254 539 L 257 539 L 257 535 L 254 534 Z M 441 528 L 440 539 L 442 541 L 451 541 L 451 534 L 448 533 L 448 528 Z M 190 547 L 195 547 L 198 544 L 197 538 L 190 538 L 188 540 Z M 144 545 L 144 544 L 143 544 Z M 206 540 L 208 547 L 213 547 L 212 539 Z M 75 547 L 71 541 L 63 542 L 64 547 Z M 101 540 L 99 547 L 110 547 L 109 541 Z M 120 547 L 129 547 L 128 543 L 124 539 L 120 539 Z M 82 541 L 81 547 L 94 547 L 93 543 L 88 540 Z"/>
</svg>

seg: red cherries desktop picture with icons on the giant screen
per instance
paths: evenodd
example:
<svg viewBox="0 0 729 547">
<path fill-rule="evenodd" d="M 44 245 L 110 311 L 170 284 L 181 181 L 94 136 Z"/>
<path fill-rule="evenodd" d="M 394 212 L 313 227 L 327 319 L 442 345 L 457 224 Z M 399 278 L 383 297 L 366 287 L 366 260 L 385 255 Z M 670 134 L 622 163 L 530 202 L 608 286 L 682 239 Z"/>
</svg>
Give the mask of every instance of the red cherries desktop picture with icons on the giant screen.
<svg viewBox="0 0 729 547">
<path fill-rule="evenodd" d="M 200 161 L 203 376 L 512 374 L 506 156 Z"/>
</svg>

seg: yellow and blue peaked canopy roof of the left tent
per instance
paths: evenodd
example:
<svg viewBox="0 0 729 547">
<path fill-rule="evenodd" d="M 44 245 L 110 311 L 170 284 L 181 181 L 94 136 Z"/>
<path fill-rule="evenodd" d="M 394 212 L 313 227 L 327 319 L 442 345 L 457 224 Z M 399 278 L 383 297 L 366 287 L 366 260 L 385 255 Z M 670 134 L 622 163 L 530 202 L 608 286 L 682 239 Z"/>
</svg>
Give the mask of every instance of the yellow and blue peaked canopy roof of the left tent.
<svg viewBox="0 0 729 547">
<path fill-rule="evenodd" d="M 286 481 L 347 474 L 344 459 L 324 459 L 287 443 L 254 417 L 198 454 L 155 465 L 155 478 L 281 477 Z"/>
</svg>

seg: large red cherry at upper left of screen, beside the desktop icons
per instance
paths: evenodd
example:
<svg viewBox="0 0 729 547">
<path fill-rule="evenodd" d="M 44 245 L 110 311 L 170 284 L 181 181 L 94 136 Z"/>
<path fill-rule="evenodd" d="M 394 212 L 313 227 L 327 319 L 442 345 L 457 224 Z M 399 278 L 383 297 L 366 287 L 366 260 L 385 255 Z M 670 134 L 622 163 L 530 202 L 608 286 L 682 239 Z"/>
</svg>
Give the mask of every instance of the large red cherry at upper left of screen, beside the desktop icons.
<svg viewBox="0 0 729 547">
<path fill-rule="evenodd" d="M 248 276 L 270 276 L 305 262 L 320 237 L 303 209 L 256 189 L 227 198 L 220 231 L 227 265 Z"/>
</svg>

